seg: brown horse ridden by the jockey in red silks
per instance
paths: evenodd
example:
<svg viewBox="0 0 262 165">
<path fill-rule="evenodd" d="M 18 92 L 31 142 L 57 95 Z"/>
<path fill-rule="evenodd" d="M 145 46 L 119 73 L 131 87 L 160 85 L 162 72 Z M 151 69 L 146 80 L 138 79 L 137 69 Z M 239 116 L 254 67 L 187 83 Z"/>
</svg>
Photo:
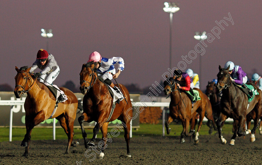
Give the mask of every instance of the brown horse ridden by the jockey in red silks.
<svg viewBox="0 0 262 165">
<path fill-rule="evenodd" d="M 209 100 L 203 99 L 204 96 L 201 90 L 194 88 L 195 90 L 198 90 L 201 100 L 196 101 L 196 103 L 194 103 L 194 106 L 192 108 L 191 100 L 189 99 L 186 93 L 180 92 L 180 90 L 177 88 L 175 80 L 164 81 L 164 86 L 165 86 L 164 87 L 165 95 L 170 94 L 171 97 L 171 101 L 169 104 L 169 116 L 165 124 L 167 129 L 167 134 L 170 133 L 170 129 L 168 129 L 169 124 L 174 119 L 181 119 L 183 130 L 180 136 L 180 142 L 184 143 L 185 142 L 184 136 L 190 136 L 191 134 L 194 133 L 193 129 L 195 126 L 196 113 L 198 113 L 199 122 L 198 122 L 198 129 L 195 135 L 195 143 L 198 143 L 199 130 L 201 128 L 202 121 L 205 116 L 206 105 L 208 104 Z M 189 124 L 191 125 L 191 130 L 188 133 Z"/>
</svg>

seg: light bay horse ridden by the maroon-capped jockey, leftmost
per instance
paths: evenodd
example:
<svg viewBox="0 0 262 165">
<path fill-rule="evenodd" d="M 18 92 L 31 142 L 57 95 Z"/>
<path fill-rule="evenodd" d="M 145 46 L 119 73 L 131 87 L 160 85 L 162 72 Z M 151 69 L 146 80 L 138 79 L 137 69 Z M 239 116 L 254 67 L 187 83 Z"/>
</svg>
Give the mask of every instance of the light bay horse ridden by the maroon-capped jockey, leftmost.
<svg viewBox="0 0 262 165">
<path fill-rule="evenodd" d="M 26 111 L 26 129 L 27 133 L 23 139 L 21 146 L 26 147 L 23 156 L 28 156 L 28 148 L 31 139 L 31 132 L 34 126 L 51 117 L 56 105 L 56 98 L 43 83 L 34 80 L 29 73 L 27 66 L 20 68 L 16 67 L 17 75 L 15 76 L 16 86 L 14 94 L 16 98 L 20 98 L 24 93 L 27 93 L 24 108 Z M 65 130 L 68 137 L 68 144 L 65 153 L 69 153 L 70 145 L 76 147 L 77 143 L 72 143 L 74 130 L 73 125 L 77 109 L 81 108 L 80 101 L 77 100 L 73 92 L 66 88 L 59 88 L 64 91 L 68 100 L 59 103 L 55 114 L 51 118 L 59 120 L 61 127 Z"/>
</svg>

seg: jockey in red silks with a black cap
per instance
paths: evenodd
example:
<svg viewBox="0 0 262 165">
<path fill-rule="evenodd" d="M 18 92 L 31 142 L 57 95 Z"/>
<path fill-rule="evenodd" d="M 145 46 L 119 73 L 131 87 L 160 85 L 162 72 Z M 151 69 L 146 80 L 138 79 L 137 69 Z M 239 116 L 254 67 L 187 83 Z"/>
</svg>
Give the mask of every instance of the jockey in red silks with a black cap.
<svg viewBox="0 0 262 165">
<path fill-rule="evenodd" d="M 192 83 L 192 79 L 189 77 L 187 73 L 182 73 L 181 70 L 175 70 L 174 71 L 174 77 L 173 80 L 176 80 L 177 82 L 177 88 L 181 90 L 190 91 L 190 93 L 194 96 L 192 88 L 190 88 L 190 84 Z M 188 97 L 191 99 L 192 103 L 196 102 L 196 99 L 193 101 L 194 97 L 191 95 L 188 95 Z"/>
</svg>

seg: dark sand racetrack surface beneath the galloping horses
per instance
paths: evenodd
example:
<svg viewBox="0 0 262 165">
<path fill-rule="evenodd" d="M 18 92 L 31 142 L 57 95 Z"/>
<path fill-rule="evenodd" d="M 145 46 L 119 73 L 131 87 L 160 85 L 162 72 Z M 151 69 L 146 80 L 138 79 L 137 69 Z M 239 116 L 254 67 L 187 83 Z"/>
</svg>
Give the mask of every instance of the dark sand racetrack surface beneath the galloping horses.
<svg viewBox="0 0 262 165">
<path fill-rule="evenodd" d="M 194 145 L 193 139 L 189 143 L 179 143 L 179 136 L 171 137 L 136 137 L 130 140 L 130 152 L 132 157 L 126 157 L 126 143 L 123 138 L 112 138 L 111 143 L 105 150 L 104 159 L 85 157 L 87 149 L 84 147 L 84 140 L 77 139 L 80 145 L 70 148 L 70 154 L 64 154 L 67 140 L 32 140 L 29 148 L 29 156 L 22 157 L 25 148 L 20 146 L 21 141 L 0 143 L 0 164 L 262 164 L 261 150 L 262 138 L 257 133 L 256 141 L 249 142 L 250 135 L 244 139 L 237 137 L 235 146 L 229 146 L 231 135 L 224 135 L 227 140 L 226 145 L 220 143 L 220 139 L 215 135 L 199 136 L 199 144 Z M 96 144 L 101 138 L 96 140 Z M 92 151 L 95 153 L 94 151 Z M 87 155 L 91 153 L 88 152 Z M 80 163 L 81 161 L 81 163 Z"/>
</svg>

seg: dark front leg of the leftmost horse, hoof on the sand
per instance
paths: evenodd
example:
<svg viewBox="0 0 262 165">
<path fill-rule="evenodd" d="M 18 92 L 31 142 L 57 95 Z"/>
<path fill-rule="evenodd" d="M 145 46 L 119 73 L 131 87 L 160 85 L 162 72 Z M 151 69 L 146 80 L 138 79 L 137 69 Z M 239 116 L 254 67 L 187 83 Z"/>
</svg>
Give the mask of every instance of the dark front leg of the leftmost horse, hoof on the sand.
<svg viewBox="0 0 262 165">
<path fill-rule="evenodd" d="M 45 114 L 43 110 L 38 112 L 36 116 L 33 118 L 32 116 L 26 116 L 25 122 L 26 122 L 27 133 L 25 134 L 25 137 L 21 143 L 22 147 L 26 147 L 25 153 L 23 154 L 23 156 L 26 156 L 26 157 L 28 156 L 28 148 L 29 148 L 29 143 L 31 140 L 32 129 L 34 128 L 34 126 L 44 121 L 44 119 L 45 119 Z"/>
</svg>

